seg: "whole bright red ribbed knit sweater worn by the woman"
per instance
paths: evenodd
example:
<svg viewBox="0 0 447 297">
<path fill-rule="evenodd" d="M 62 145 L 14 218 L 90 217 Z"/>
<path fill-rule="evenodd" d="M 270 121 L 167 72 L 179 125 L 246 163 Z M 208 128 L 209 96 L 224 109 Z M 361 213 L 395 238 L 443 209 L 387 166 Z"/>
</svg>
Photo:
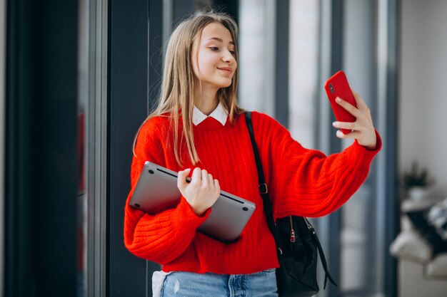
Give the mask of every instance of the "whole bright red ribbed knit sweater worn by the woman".
<svg viewBox="0 0 447 297">
<path fill-rule="evenodd" d="M 289 214 L 321 217 L 346 202 L 368 175 L 376 150 L 354 142 L 340 154 L 326 157 L 318 150 L 307 150 L 276 120 L 252 113 L 256 144 L 261 155 L 273 216 Z M 172 137 L 166 137 L 169 119 L 156 117 L 139 132 L 136 157 L 131 167 L 131 196 L 144 162 L 149 160 L 174 171 L 194 168 L 186 162 L 179 167 L 172 150 Z M 196 273 L 254 273 L 278 267 L 275 241 L 268 230 L 263 203 L 258 193 L 258 175 L 245 115 L 235 125 L 221 125 L 214 118 L 194 126 L 194 141 L 201 162 L 196 165 L 219 179 L 221 189 L 256 203 L 256 211 L 233 244 L 224 244 L 197 232 L 209 216 L 198 217 L 186 200 L 174 209 L 155 216 L 125 206 L 124 242 L 136 256 L 163 265 L 164 271 Z M 182 151 L 188 160 L 186 150 Z"/>
</svg>

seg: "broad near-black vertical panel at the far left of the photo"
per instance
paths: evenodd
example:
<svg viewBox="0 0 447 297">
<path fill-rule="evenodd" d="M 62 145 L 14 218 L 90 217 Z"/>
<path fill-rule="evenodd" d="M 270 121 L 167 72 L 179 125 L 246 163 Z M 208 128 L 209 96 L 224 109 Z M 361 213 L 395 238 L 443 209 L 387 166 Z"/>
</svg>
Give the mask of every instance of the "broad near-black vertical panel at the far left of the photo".
<svg viewBox="0 0 447 297">
<path fill-rule="evenodd" d="M 8 1 L 5 296 L 76 296 L 77 1 Z"/>
</svg>

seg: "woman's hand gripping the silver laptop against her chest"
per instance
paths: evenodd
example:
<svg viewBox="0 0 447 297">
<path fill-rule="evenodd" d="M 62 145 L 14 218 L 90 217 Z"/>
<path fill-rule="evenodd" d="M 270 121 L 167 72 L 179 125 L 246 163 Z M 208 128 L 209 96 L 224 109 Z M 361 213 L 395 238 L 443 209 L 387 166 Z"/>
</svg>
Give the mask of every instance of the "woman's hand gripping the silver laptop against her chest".
<svg viewBox="0 0 447 297">
<path fill-rule="evenodd" d="M 189 172 L 191 172 L 190 168 L 179 172 L 177 187 L 194 213 L 201 216 L 219 198 L 221 187 L 217 179 L 213 179 L 211 174 L 199 167 L 194 169 L 191 182 L 186 182 Z"/>
</svg>

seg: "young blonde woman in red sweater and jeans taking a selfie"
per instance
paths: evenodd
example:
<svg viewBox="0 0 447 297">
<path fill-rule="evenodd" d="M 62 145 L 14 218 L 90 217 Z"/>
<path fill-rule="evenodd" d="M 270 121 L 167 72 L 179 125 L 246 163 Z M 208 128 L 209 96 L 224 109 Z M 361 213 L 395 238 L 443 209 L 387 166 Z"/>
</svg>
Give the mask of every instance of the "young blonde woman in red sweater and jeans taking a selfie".
<svg viewBox="0 0 447 297">
<path fill-rule="evenodd" d="M 237 28 L 224 14 L 192 16 L 172 33 L 158 108 L 134 143 L 131 185 L 149 160 L 179 172 L 179 204 L 156 215 L 126 203 L 126 248 L 163 266 L 154 273 L 154 296 L 277 296 L 275 241 L 268 230 L 244 111 L 236 103 Z M 293 140 L 276 120 L 252 113 L 273 217 L 321 217 L 345 203 L 366 179 L 381 147 L 371 113 L 339 99 L 356 117 L 333 123 L 353 132 L 353 144 L 323 155 Z M 186 177 L 191 176 L 191 183 Z M 256 203 L 240 238 L 224 244 L 197 232 L 220 190 Z"/>
</svg>

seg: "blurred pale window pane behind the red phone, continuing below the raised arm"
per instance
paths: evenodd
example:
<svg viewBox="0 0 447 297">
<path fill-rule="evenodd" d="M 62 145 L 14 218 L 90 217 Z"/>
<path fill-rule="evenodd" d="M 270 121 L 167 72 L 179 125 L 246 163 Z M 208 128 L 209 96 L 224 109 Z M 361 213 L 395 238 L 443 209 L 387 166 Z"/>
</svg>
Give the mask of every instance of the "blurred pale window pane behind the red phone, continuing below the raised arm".
<svg viewBox="0 0 447 297">
<path fill-rule="evenodd" d="M 376 1 L 347 0 L 343 5 L 343 70 L 373 118 L 376 103 Z M 352 140 L 343 141 L 343 148 Z M 371 172 L 375 171 L 374 164 Z M 366 182 L 341 208 L 341 296 L 376 296 L 379 264 L 376 178 Z M 379 235 L 383 236 L 383 235 Z M 367 268 L 367 269 L 366 269 Z"/>
</svg>

